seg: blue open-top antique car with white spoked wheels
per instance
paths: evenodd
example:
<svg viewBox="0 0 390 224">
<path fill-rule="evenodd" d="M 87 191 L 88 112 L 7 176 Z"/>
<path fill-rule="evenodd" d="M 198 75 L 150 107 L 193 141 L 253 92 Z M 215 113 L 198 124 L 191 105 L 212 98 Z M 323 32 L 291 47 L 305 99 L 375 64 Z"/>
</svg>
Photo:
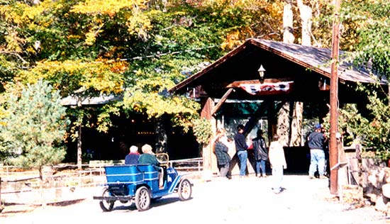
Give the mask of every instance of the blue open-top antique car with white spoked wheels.
<svg viewBox="0 0 390 224">
<path fill-rule="evenodd" d="M 101 209 L 112 211 L 116 201 L 130 201 L 135 203 L 138 211 L 145 211 L 150 208 L 151 201 L 168 194 L 177 193 L 181 201 L 191 198 L 192 184 L 189 179 L 169 166 L 167 154 L 156 156 L 160 167 L 150 164 L 104 167 L 106 185 L 101 196 L 94 196 L 94 199 L 100 200 Z M 159 181 L 160 175 L 162 178 Z"/>
</svg>

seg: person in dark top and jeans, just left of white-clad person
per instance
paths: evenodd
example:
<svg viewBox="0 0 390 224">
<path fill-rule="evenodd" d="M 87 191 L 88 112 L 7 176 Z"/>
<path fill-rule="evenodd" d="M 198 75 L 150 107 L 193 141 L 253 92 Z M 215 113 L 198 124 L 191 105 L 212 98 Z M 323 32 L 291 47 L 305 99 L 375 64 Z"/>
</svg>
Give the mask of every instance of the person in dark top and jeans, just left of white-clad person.
<svg viewBox="0 0 390 224">
<path fill-rule="evenodd" d="M 256 160 L 256 177 L 267 177 L 267 172 L 265 171 L 265 162 L 268 160 L 268 149 L 267 144 L 265 143 L 264 137 L 262 137 L 263 131 L 261 129 L 257 130 L 257 137 L 252 139 L 253 152 L 255 152 Z M 262 174 L 260 175 L 260 169 Z"/>
</svg>

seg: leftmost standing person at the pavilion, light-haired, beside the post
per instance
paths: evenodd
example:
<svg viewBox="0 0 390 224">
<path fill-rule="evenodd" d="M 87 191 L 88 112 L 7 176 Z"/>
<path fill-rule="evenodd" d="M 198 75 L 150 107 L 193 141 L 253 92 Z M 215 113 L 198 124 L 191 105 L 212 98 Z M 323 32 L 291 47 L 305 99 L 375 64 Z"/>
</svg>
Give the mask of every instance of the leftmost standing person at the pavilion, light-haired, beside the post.
<svg viewBox="0 0 390 224">
<path fill-rule="evenodd" d="M 216 141 L 214 146 L 214 153 L 217 157 L 217 165 L 219 169 L 220 177 L 227 177 L 230 179 L 229 165 L 230 155 L 228 154 L 228 138 L 226 136 L 226 130 L 224 128 L 218 129 L 216 134 Z"/>
</svg>

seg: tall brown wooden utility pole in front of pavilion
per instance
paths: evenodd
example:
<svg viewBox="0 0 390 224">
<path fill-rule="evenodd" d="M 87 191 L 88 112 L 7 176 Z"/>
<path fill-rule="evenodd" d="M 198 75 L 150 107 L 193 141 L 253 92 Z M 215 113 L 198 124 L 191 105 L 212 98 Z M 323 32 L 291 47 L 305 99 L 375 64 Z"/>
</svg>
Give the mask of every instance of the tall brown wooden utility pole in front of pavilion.
<svg viewBox="0 0 390 224">
<path fill-rule="evenodd" d="M 340 39 L 340 2 L 335 0 L 335 14 L 333 18 L 332 34 L 332 67 L 330 73 L 330 167 L 338 164 L 338 55 Z M 338 169 L 330 171 L 330 194 L 338 194 Z"/>
</svg>

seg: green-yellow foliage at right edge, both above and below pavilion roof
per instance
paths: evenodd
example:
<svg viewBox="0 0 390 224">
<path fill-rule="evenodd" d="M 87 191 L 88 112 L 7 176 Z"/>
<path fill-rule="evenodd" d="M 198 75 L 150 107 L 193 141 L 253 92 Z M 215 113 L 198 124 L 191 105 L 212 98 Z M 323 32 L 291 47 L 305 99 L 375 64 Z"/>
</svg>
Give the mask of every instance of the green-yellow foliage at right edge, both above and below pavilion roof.
<svg viewBox="0 0 390 224">
<path fill-rule="evenodd" d="M 326 1 L 320 1 L 320 4 Z M 323 4 L 315 24 L 314 35 L 321 37 L 323 47 L 330 47 L 330 26 L 333 6 Z M 374 1 L 342 1 L 340 30 L 340 49 L 355 52 L 355 66 L 372 72 L 374 78 L 389 80 L 390 78 L 390 40 L 389 10 L 386 0 Z M 340 133 L 348 133 L 350 140 L 360 140 L 367 149 L 376 152 L 379 159 L 389 159 L 389 90 L 379 88 L 379 82 L 372 86 L 360 86 L 368 96 L 369 116 L 362 114 L 356 106 L 340 108 L 338 112 L 338 128 Z M 328 123 L 329 117 L 325 119 Z M 346 139 L 347 140 L 347 139 Z"/>
</svg>

